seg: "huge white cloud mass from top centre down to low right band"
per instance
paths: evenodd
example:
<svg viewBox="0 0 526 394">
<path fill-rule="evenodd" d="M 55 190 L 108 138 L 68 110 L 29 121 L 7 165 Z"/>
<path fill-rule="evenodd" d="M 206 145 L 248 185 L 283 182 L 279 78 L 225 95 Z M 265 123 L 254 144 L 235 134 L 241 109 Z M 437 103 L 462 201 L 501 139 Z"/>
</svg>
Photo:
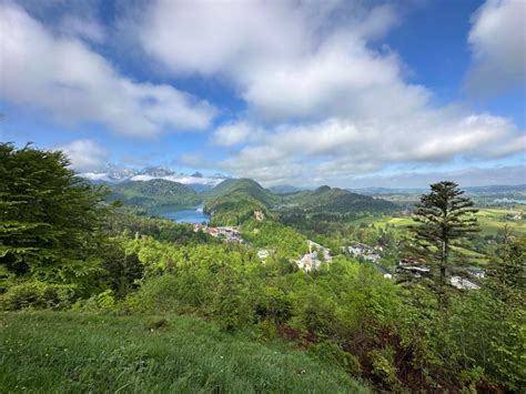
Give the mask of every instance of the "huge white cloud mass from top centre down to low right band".
<svg viewBox="0 0 526 394">
<path fill-rule="evenodd" d="M 508 119 L 435 107 L 432 91 L 406 81 L 397 53 L 372 44 L 399 22 L 393 7 L 160 0 L 142 16 L 148 53 L 174 75 L 230 81 L 247 104 L 246 119 L 212 135 L 231 150 L 220 165 L 234 175 L 348 178 L 525 149 Z"/>
</svg>

